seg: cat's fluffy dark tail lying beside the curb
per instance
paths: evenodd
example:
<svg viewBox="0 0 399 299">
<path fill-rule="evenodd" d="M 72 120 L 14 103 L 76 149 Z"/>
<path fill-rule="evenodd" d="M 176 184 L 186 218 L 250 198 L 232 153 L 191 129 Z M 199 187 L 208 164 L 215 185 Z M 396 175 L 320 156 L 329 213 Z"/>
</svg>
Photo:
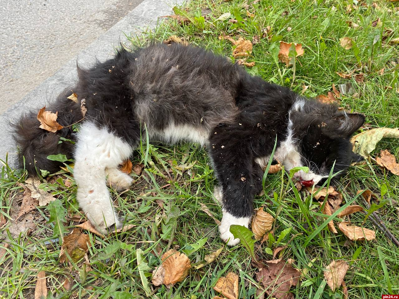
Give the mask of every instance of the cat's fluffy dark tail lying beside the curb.
<svg viewBox="0 0 399 299">
<path fill-rule="evenodd" d="M 52 133 L 39 128 L 38 111 L 30 111 L 22 115 L 17 123 L 12 124 L 20 166 L 25 167 L 29 173 L 36 174 L 40 169 L 50 173 L 59 170 L 62 163 L 47 159 L 48 155 L 61 153 L 68 159 L 72 157 L 74 134 L 70 125 L 78 122 L 82 114 L 80 103 L 67 98 L 71 93 L 71 89 L 65 90 L 53 104 L 46 107 L 46 111 L 58 112 L 57 122 L 64 126 L 63 129 Z"/>
</svg>

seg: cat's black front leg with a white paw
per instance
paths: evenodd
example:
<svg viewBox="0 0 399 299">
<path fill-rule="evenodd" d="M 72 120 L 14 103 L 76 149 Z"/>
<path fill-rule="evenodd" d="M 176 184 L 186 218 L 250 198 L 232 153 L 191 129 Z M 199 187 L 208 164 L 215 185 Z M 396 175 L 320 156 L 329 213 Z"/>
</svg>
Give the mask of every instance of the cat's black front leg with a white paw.
<svg viewBox="0 0 399 299">
<path fill-rule="evenodd" d="M 223 211 L 219 226 L 220 238 L 227 245 L 234 246 L 240 240 L 231 234 L 231 224 L 248 227 L 253 213 L 253 155 L 245 140 L 233 142 L 234 139 L 220 135 L 211 138 L 209 153 L 220 184 L 215 192 Z"/>
</svg>

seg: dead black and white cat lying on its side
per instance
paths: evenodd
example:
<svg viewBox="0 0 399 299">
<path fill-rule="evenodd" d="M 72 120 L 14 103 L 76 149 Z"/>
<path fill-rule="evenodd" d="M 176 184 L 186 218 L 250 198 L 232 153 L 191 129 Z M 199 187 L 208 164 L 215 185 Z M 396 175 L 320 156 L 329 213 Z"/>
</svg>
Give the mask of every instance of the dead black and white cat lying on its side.
<svg viewBox="0 0 399 299">
<path fill-rule="evenodd" d="M 308 173 L 296 173 L 300 181 L 317 184 L 334 163 L 334 173 L 342 173 L 358 159 L 349 138 L 363 124 L 363 115 L 309 100 L 198 47 L 155 43 L 132 52 L 121 49 L 78 74 L 72 89 L 78 102 L 67 99 L 67 89 L 47 110 L 58 111 L 57 121 L 68 126 L 81 120 L 85 99 L 79 132 L 71 127 L 47 132 L 32 112 L 15 125 L 15 138 L 30 173 L 57 171 L 61 163 L 48 155 L 75 158 L 77 200 L 102 231 L 121 226 L 106 183 L 118 189 L 132 184 L 118 165 L 146 135 L 145 127 L 150 140 L 186 140 L 207 148 L 219 181 L 215 197 L 223 206 L 220 236 L 229 245 L 239 242 L 231 224 L 248 227 L 276 136 L 274 159 L 286 170 L 310 167 Z M 76 144 L 59 143 L 60 137 Z"/>
</svg>

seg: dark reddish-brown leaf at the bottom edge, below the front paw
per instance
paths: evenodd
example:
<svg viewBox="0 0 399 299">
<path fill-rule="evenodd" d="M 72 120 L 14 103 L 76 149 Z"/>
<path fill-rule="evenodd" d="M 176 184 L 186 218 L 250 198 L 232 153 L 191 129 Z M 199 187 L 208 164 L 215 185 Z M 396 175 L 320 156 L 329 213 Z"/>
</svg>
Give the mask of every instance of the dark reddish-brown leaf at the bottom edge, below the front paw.
<svg viewBox="0 0 399 299">
<path fill-rule="evenodd" d="M 265 262 L 263 268 L 256 273 L 256 279 L 265 293 L 277 299 L 293 298 L 289 291 L 291 286 L 298 283 L 299 278 L 300 271 L 282 259 Z"/>
</svg>

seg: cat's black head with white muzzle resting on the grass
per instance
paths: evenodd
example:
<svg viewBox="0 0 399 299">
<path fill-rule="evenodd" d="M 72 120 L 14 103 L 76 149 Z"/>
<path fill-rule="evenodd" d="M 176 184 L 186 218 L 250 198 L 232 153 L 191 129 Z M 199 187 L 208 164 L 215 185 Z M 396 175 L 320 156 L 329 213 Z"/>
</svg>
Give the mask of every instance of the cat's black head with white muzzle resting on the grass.
<svg viewBox="0 0 399 299">
<path fill-rule="evenodd" d="M 321 185 L 333 167 L 333 180 L 342 176 L 352 161 L 361 159 L 352 151 L 350 138 L 364 120 L 363 114 L 339 111 L 334 104 L 300 99 L 291 109 L 290 122 L 297 159 L 309 172 L 298 171 L 294 177 Z"/>
</svg>

